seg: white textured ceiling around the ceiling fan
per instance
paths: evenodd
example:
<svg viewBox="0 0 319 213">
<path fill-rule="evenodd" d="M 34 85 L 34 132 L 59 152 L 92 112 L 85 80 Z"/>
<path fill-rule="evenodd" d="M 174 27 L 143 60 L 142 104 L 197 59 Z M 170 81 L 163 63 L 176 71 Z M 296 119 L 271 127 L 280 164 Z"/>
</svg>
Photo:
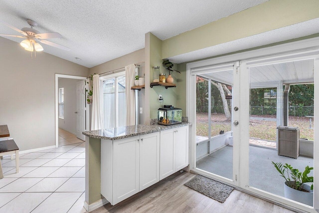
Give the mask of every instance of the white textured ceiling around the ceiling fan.
<svg viewBox="0 0 319 213">
<path fill-rule="evenodd" d="M 43 44 L 44 52 L 93 67 L 144 48 L 147 32 L 164 40 L 265 1 L 1 0 L 0 20 L 21 29 L 29 18 L 40 32 L 59 32 L 62 38 L 48 40 L 71 50 Z M 0 24 L 0 34 L 19 33 Z"/>
</svg>

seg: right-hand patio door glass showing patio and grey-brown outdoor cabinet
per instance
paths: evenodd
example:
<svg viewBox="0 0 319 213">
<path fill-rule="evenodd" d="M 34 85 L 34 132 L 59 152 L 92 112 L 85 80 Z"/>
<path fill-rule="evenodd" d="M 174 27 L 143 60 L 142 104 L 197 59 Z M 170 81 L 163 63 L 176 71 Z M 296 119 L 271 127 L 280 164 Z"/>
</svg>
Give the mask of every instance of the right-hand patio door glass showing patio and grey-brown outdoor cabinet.
<svg viewBox="0 0 319 213">
<path fill-rule="evenodd" d="M 314 167 L 313 70 L 314 59 L 249 67 L 249 187 L 287 198 L 285 179 L 272 162 L 301 173 Z"/>
</svg>

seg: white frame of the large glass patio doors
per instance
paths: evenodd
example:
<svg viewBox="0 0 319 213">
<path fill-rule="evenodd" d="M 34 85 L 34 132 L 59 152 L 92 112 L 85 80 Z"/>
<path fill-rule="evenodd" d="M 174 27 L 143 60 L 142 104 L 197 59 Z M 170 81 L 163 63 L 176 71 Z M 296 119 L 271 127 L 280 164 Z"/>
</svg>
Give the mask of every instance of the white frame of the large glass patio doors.
<svg viewBox="0 0 319 213">
<path fill-rule="evenodd" d="M 240 93 L 241 94 L 249 94 L 249 67 L 255 65 L 265 65 L 274 63 L 274 61 L 281 62 L 298 58 L 301 59 L 315 59 L 315 70 L 319 67 L 319 37 L 295 41 L 291 43 L 280 44 L 276 46 L 261 48 L 257 50 L 251 50 L 242 53 L 231 54 L 227 56 L 216 57 L 212 59 L 206 59 L 202 61 L 196 61 L 192 63 L 186 64 L 186 116 L 188 116 L 189 122 L 196 124 L 196 110 L 194 105 L 195 96 L 195 77 L 191 74 L 191 71 L 196 69 L 203 69 L 205 67 L 213 66 L 213 65 L 222 65 L 229 62 L 241 61 L 241 65 L 239 67 L 239 80 L 240 85 Z M 316 71 L 315 71 L 316 72 Z M 319 72 L 317 68 L 317 72 Z M 315 73 L 315 105 L 319 106 L 319 75 Z M 249 95 L 240 98 L 239 103 L 240 110 L 240 120 L 239 123 L 242 125 L 249 124 Z M 315 107 L 314 115 L 319 116 L 319 107 Z M 196 144 L 195 144 L 195 125 L 192 125 L 189 131 L 189 147 L 190 147 L 190 170 L 198 172 L 194 170 L 195 168 L 195 155 L 196 155 Z M 306 205 L 298 204 L 296 202 L 290 202 L 286 199 L 283 199 L 280 196 L 276 196 L 270 193 L 266 193 L 260 191 L 258 189 L 249 187 L 249 158 L 247 153 L 249 151 L 249 144 L 244 143 L 243 141 L 249 138 L 249 130 L 248 128 L 241 128 L 240 131 L 240 151 L 239 155 L 239 188 L 249 194 L 254 194 L 256 196 L 262 196 L 266 200 L 270 200 L 274 203 L 278 203 L 280 205 L 284 205 L 290 208 L 297 208 L 306 212 L 316 213 L 319 212 L 319 203 L 314 202 L 314 208 L 309 208 Z M 319 125 L 315 125 L 314 128 L 314 141 L 319 141 Z M 235 151 L 235 150 L 234 150 Z M 319 200 L 319 144 L 314 143 L 314 201 Z M 234 165 L 235 166 L 235 165 Z M 217 180 L 220 180 L 219 177 L 214 177 Z M 222 180 L 223 181 L 223 180 Z M 228 183 L 231 184 L 231 183 Z"/>
</svg>

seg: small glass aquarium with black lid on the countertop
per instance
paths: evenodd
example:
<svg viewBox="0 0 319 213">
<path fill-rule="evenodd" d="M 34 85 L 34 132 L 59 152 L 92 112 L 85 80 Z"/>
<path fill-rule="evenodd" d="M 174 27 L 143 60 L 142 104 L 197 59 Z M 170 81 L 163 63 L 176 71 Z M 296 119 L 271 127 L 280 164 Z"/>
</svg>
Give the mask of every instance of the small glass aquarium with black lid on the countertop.
<svg viewBox="0 0 319 213">
<path fill-rule="evenodd" d="M 164 105 L 163 108 L 159 109 L 158 112 L 158 124 L 160 125 L 174 125 L 181 123 L 181 109 L 174 108 L 170 105 Z"/>
</svg>

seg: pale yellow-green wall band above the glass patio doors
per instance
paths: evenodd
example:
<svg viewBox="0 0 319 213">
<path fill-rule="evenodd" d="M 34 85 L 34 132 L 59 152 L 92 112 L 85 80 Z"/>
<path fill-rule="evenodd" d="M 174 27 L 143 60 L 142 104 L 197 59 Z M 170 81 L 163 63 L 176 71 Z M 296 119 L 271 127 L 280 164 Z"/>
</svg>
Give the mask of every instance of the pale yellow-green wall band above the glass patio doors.
<svg viewBox="0 0 319 213">
<path fill-rule="evenodd" d="M 269 0 L 162 41 L 162 58 L 319 17 L 318 0 Z"/>
</svg>

